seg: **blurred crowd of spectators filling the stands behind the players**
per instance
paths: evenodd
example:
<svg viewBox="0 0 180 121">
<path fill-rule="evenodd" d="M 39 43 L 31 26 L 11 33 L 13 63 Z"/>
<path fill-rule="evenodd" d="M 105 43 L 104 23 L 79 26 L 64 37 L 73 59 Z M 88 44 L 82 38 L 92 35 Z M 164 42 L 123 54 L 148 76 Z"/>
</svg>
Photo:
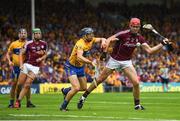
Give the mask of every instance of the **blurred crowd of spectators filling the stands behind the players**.
<svg viewBox="0 0 180 121">
<path fill-rule="evenodd" d="M 31 11 L 30 1 L 8 2 L 2 0 L 0 4 L 0 82 L 10 80 L 10 67 L 5 54 L 12 41 L 17 38 L 18 29 L 28 30 L 31 39 Z M 10 9 L 6 9 L 10 8 Z M 48 57 L 41 73 L 34 83 L 67 83 L 63 63 L 68 59 L 71 49 L 78 40 L 78 33 L 83 27 L 95 29 L 95 36 L 109 37 L 120 30 L 128 28 L 131 17 L 139 17 L 142 24 L 151 23 L 165 37 L 174 43 L 174 51 L 166 48 L 160 53 L 149 55 L 140 47 L 133 57 L 139 80 L 142 82 L 160 82 L 160 68 L 169 68 L 169 78 L 172 82 L 180 82 L 180 5 L 166 8 L 163 5 L 137 4 L 127 6 L 117 3 L 100 3 L 92 6 L 82 0 L 71 2 L 68 0 L 36 1 L 36 27 L 41 28 L 43 40 L 48 43 Z M 159 38 L 152 33 L 141 31 L 151 46 L 160 43 Z M 93 47 L 91 59 L 99 63 L 99 71 L 105 66 L 100 60 L 102 50 L 99 45 Z M 94 69 L 89 65 L 85 68 L 88 82 L 92 81 Z M 114 71 L 108 77 L 109 85 L 131 86 L 122 73 Z"/>
</svg>

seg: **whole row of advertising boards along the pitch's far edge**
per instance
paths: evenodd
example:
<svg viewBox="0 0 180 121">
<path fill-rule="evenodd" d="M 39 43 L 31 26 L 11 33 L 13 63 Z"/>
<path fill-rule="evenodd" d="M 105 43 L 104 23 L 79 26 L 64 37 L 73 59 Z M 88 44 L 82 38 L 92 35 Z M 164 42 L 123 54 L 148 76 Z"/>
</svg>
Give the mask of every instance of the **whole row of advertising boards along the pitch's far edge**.
<svg viewBox="0 0 180 121">
<path fill-rule="evenodd" d="M 90 83 L 88 83 L 88 86 Z M 32 94 L 59 94 L 61 93 L 61 88 L 71 86 L 68 84 L 33 84 L 31 86 Z M 168 92 L 180 92 L 180 83 L 171 82 L 169 83 Z M 8 85 L 0 85 L 0 94 L 9 94 L 11 90 L 11 86 Z M 124 91 L 123 89 L 121 90 Z M 164 92 L 162 88 L 162 83 L 140 83 L 140 91 L 141 92 Z M 104 88 L 103 85 L 100 84 L 93 93 L 103 93 Z"/>
</svg>

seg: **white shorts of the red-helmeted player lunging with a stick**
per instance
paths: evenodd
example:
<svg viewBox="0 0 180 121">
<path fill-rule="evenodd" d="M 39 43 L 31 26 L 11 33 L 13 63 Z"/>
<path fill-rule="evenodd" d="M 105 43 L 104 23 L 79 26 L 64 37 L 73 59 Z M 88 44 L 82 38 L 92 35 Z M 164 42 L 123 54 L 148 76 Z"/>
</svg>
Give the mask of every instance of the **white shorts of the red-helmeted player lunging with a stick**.
<svg viewBox="0 0 180 121">
<path fill-rule="evenodd" d="M 131 60 L 118 61 L 118 60 L 113 59 L 112 57 L 109 58 L 106 64 L 107 68 L 116 69 L 116 70 L 122 70 L 130 66 L 133 66 Z"/>
</svg>

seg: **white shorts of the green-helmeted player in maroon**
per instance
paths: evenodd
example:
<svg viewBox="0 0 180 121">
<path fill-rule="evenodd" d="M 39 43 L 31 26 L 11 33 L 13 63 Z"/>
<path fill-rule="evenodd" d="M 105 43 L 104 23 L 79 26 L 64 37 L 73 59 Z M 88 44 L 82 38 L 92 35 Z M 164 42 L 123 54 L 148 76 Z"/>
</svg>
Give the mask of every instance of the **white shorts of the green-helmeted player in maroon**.
<svg viewBox="0 0 180 121">
<path fill-rule="evenodd" d="M 24 63 L 23 64 L 23 70 L 21 70 L 21 72 L 24 74 L 28 74 L 28 72 L 30 72 L 30 71 L 33 72 L 35 75 L 38 75 L 39 67 L 33 66 L 31 64 L 28 64 L 28 63 Z"/>
</svg>

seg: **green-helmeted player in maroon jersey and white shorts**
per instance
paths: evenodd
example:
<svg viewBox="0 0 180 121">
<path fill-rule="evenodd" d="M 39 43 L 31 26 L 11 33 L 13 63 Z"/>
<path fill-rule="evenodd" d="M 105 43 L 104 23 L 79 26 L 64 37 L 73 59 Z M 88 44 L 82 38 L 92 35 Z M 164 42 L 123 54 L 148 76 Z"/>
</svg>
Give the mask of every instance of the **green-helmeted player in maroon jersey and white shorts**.
<svg viewBox="0 0 180 121">
<path fill-rule="evenodd" d="M 33 80 L 39 73 L 42 62 L 46 58 L 47 43 L 41 40 L 42 34 L 39 28 L 33 29 L 33 37 L 33 40 L 26 42 L 24 49 L 22 49 L 20 54 L 21 73 L 18 78 L 17 86 L 23 86 L 23 88 L 21 91 L 17 90 L 20 94 L 15 103 L 15 108 L 20 108 L 21 100 L 31 87 Z M 27 56 L 24 63 L 22 62 L 23 54 Z"/>
</svg>

